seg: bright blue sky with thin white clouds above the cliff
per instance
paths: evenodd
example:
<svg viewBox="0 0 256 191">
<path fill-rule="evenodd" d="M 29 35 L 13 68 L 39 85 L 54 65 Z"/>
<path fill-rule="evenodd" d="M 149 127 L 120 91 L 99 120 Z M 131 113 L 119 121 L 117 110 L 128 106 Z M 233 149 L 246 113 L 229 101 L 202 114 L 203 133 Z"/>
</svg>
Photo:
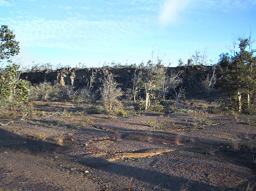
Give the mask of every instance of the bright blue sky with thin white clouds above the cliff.
<svg viewBox="0 0 256 191">
<path fill-rule="evenodd" d="M 147 62 L 177 65 L 196 50 L 217 62 L 233 37 L 256 39 L 255 0 L 0 0 L 0 23 L 23 66 Z"/>
</svg>

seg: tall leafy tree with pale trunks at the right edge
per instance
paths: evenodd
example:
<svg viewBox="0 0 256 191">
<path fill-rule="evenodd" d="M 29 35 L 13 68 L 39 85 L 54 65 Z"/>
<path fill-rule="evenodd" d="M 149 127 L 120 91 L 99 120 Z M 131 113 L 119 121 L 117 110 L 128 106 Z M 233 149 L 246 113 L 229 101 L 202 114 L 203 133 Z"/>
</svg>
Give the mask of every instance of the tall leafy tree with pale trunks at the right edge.
<svg viewBox="0 0 256 191">
<path fill-rule="evenodd" d="M 222 67 L 221 89 L 234 100 L 236 110 L 240 113 L 250 108 L 251 102 L 255 102 L 256 57 L 255 50 L 251 49 L 250 37 L 239 38 L 238 41 L 240 51 L 234 52 L 233 56 L 222 53 L 218 65 Z"/>
</svg>

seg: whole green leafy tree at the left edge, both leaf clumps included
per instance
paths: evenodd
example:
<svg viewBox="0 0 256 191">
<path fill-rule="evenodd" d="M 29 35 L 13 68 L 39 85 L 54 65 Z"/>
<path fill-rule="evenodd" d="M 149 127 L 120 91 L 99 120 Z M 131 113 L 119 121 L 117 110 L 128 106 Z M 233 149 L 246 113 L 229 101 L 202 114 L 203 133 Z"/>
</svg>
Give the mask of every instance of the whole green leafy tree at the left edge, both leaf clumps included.
<svg viewBox="0 0 256 191">
<path fill-rule="evenodd" d="M 0 41 L 0 62 L 9 62 L 5 68 L 0 69 L 0 101 L 5 103 L 2 104 L 4 107 L 20 106 L 28 100 L 29 88 L 26 80 L 19 79 L 20 66 L 10 60 L 19 53 L 19 43 L 7 26 L 1 26 Z"/>
</svg>

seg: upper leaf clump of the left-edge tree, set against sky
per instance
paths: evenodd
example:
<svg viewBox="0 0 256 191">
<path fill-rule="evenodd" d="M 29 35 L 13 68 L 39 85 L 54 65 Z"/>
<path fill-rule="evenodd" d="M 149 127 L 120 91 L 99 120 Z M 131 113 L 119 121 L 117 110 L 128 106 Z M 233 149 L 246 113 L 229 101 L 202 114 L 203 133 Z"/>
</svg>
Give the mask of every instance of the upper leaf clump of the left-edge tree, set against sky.
<svg viewBox="0 0 256 191">
<path fill-rule="evenodd" d="M 2 25 L 0 29 L 0 58 L 9 60 L 11 57 L 18 55 L 19 42 L 15 40 L 13 31 L 8 26 Z"/>
</svg>

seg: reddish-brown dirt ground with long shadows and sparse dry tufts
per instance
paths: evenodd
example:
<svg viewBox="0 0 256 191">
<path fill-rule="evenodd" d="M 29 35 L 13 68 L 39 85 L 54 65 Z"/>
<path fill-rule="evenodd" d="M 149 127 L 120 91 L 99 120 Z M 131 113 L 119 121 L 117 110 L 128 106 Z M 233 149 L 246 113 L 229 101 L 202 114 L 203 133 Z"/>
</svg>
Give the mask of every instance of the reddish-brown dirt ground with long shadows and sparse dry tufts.
<svg viewBox="0 0 256 191">
<path fill-rule="evenodd" d="M 255 116 L 88 113 L 2 114 L 0 190 L 253 190 Z"/>
</svg>

